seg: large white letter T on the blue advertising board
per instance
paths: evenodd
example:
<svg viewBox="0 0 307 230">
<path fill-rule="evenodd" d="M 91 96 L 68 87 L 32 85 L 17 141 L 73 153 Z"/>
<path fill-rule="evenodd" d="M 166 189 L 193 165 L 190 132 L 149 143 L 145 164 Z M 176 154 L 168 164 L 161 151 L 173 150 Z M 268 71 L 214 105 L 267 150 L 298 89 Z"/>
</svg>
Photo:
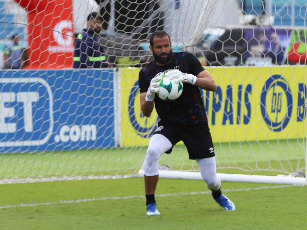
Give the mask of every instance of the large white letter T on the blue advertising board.
<svg viewBox="0 0 307 230">
<path fill-rule="evenodd" d="M 33 132 L 33 112 L 32 112 L 32 103 L 37 102 L 39 99 L 38 93 L 27 92 L 27 93 L 18 93 L 17 101 L 24 103 L 24 122 L 25 122 L 25 131 Z"/>
</svg>

